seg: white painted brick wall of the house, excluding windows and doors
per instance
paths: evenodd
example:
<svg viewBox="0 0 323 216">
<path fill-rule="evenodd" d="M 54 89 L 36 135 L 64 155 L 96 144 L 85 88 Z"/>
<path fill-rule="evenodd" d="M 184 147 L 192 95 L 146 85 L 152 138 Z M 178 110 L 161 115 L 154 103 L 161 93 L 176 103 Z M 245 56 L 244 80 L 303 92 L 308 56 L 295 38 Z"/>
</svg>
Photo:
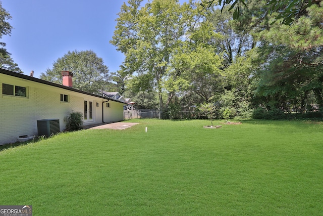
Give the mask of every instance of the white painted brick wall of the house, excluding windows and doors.
<svg viewBox="0 0 323 216">
<path fill-rule="evenodd" d="M 27 98 L 3 95 L 2 83 L 26 87 Z M 61 94 L 69 95 L 69 103 L 60 101 Z M 0 74 L 0 144 L 16 142 L 22 135 L 37 136 L 40 119 L 60 119 L 60 129 L 65 129 L 64 117 L 72 111 L 83 113 L 84 99 L 93 101 L 94 116 L 93 121 L 84 124 L 101 123 L 104 99 Z M 110 104 L 110 108 L 103 104 L 104 121 L 123 120 L 124 104 L 113 101 Z"/>
</svg>

